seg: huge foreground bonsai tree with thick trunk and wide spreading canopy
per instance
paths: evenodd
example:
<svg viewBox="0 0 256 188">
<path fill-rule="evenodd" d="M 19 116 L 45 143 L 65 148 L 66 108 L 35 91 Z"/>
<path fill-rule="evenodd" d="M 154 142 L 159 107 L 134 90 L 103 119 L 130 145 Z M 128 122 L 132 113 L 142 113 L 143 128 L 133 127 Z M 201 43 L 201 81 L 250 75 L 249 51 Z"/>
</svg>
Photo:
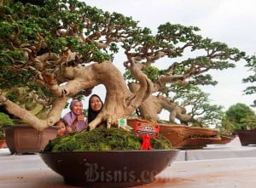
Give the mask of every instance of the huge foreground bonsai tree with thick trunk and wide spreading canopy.
<svg viewBox="0 0 256 188">
<path fill-rule="evenodd" d="M 38 130 L 60 119 L 68 99 L 87 96 L 99 84 L 107 90 L 106 99 L 90 128 L 102 121 L 115 125 L 137 109 L 157 121 L 157 106 L 165 101 L 171 119 L 188 123 L 194 118 L 184 106 L 167 98 L 174 84 L 215 85 L 208 71 L 233 68 L 246 57 L 237 48 L 201 37 L 198 27 L 165 23 L 153 34 L 131 17 L 76 0 L 45 0 L 44 6 L 11 3 L 0 7 L 0 14 L 0 105 Z M 133 78 L 129 83 L 114 60 L 119 51 Z M 46 115 L 38 118 L 17 105 L 10 92 L 15 87 L 26 87 L 26 100 L 43 105 Z"/>
</svg>

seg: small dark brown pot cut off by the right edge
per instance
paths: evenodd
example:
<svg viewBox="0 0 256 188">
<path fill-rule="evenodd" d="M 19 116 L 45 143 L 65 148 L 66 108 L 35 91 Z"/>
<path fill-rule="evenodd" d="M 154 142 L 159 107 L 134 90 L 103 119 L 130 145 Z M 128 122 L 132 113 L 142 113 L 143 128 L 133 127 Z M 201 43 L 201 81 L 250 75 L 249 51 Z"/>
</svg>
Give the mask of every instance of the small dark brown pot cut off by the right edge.
<svg viewBox="0 0 256 188">
<path fill-rule="evenodd" d="M 256 129 L 236 131 L 241 145 L 256 145 Z"/>
</svg>

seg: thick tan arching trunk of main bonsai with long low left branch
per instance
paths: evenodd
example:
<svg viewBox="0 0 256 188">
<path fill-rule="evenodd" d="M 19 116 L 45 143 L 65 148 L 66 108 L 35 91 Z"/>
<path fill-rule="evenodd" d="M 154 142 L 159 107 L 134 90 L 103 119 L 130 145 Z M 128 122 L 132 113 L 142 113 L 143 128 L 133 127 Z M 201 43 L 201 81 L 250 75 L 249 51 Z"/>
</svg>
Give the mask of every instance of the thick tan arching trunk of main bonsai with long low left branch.
<svg viewBox="0 0 256 188">
<path fill-rule="evenodd" d="M 7 100 L 1 94 L 0 105 L 5 105 L 9 113 L 26 120 L 33 128 L 43 130 L 60 119 L 61 111 L 69 98 L 79 94 L 84 89 L 90 89 L 96 85 L 103 84 L 107 90 L 105 104 L 102 112 L 93 122 L 90 122 L 89 126 L 90 128 L 96 128 L 100 122 L 107 121 L 108 127 L 110 127 L 111 125 L 116 125 L 119 118 L 131 115 L 151 93 L 151 85 L 147 77 L 136 67 L 131 68 L 133 68 L 131 73 L 134 74 L 141 84 L 141 87 L 137 89 L 137 93 L 130 92 L 119 69 L 108 61 L 95 63 L 90 66 L 63 67 L 61 75 L 70 80 L 64 86 L 59 86 L 55 77 L 45 74 L 45 83 L 48 83 L 49 90 L 57 96 L 57 100 L 46 119 L 39 119 L 29 111 L 26 111 L 26 109 Z M 63 79 L 63 77 L 60 79 Z"/>
</svg>

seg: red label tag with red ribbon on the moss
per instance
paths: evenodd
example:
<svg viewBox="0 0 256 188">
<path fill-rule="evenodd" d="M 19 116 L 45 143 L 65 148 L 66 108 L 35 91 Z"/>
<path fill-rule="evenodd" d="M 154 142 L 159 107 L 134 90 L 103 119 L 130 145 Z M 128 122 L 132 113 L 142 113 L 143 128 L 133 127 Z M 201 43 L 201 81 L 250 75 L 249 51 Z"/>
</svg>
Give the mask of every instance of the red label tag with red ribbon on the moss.
<svg viewBox="0 0 256 188">
<path fill-rule="evenodd" d="M 152 150 L 150 139 L 159 136 L 159 125 L 154 125 L 148 122 L 137 122 L 136 134 L 143 137 L 141 150 Z"/>
</svg>

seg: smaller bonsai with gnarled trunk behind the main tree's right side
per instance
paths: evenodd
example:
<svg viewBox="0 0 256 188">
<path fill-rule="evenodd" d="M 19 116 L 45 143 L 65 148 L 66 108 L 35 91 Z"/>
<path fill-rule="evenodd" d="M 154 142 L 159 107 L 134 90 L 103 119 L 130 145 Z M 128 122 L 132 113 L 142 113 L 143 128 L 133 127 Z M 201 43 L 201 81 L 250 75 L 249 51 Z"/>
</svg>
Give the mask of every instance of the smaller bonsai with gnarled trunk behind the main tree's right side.
<svg viewBox="0 0 256 188">
<path fill-rule="evenodd" d="M 144 71 L 150 80 L 155 80 L 159 76 L 159 70 L 151 66 L 150 71 Z M 125 79 L 135 85 L 131 74 L 126 71 L 124 74 Z M 133 83 L 132 83 L 133 82 Z M 212 83 L 214 84 L 214 83 Z M 133 87 L 131 87 L 132 89 Z M 204 93 L 197 85 L 188 83 L 172 83 L 168 88 L 161 88 L 156 95 L 148 97 L 152 101 L 148 104 L 143 102 L 137 109 L 137 116 L 143 119 L 152 118 L 158 119 L 160 111 L 169 111 L 169 123 L 183 123 L 193 125 L 196 127 L 212 127 L 218 126 L 220 117 L 224 113 L 223 107 L 218 105 L 211 105 L 209 94 Z M 154 105 L 154 108 L 148 108 L 148 105 Z M 151 115 L 151 116 L 149 116 Z M 153 121 L 154 121 L 153 120 Z M 165 122 L 158 120 L 159 122 Z"/>
</svg>

